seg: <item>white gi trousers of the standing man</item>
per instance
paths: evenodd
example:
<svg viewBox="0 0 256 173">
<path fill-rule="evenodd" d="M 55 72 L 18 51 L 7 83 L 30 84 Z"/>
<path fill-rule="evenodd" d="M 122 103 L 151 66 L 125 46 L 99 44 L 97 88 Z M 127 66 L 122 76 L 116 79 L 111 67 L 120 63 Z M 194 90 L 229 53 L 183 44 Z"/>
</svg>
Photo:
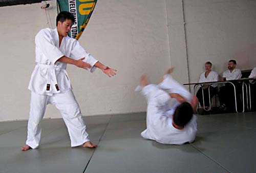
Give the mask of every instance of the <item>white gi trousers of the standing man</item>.
<svg viewBox="0 0 256 173">
<path fill-rule="evenodd" d="M 60 111 L 68 128 L 71 146 L 79 146 L 90 141 L 86 125 L 82 120 L 79 105 L 72 90 L 53 96 L 40 95 L 31 92 L 31 102 L 28 121 L 28 136 L 26 144 L 31 148 L 39 145 L 41 137 L 41 119 L 45 115 L 47 104 L 53 104 Z"/>
</svg>

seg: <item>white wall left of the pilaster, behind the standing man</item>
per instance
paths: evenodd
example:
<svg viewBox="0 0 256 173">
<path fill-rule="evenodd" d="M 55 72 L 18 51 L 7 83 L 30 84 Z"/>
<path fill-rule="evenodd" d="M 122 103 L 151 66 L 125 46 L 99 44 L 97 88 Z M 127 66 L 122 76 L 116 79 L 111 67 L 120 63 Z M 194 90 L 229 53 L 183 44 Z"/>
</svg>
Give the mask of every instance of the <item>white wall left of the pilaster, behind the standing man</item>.
<svg viewBox="0 0 256 173">
<path fill-rule="evenodd" d="M 56 1 L 49 13 L 55 25 Z M 2 52 L 0 121 L 27 119 L 34 68 L 34 36 L 48 27 L 42 4 L 1 7 Z M 109 78 L 68 66 L 73 91 L 83 115 L 145 111 L 145 100 L 134 92 L 142 73 L 158 82 L 170 66 L 164 1 L 98 1 L 79 39 L 95 58 L 118 70 Z M 48 106 L 45 118 L 60 117 Z"/>
</svg>

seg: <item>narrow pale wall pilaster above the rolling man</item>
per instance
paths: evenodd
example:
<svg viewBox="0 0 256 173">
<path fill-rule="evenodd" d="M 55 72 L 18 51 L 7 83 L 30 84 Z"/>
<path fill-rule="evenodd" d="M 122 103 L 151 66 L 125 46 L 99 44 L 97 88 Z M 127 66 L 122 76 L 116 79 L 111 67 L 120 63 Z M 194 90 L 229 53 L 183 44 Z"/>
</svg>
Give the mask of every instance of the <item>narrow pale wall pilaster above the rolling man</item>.
<svg viewBox="0 0 256 173">
<path fill-rule="evenodd" d="M 173 77 L 189 83 L 183 4 L 180 0 L 166 1 L 170 62 L 175 70 Z"/>
</svg>

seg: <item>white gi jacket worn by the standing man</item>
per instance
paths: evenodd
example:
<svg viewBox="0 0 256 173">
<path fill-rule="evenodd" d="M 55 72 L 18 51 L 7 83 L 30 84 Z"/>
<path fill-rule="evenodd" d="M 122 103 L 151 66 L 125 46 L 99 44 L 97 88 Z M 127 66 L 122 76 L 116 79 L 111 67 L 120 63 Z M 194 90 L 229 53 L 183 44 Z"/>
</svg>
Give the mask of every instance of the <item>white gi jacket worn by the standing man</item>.
<svg viewBox="0 0 256 173">
<path fill-rule="evenodd" d="M 57 29 L 42 29 L 35 36 L 35 61 L 36 66 L 31 75 L 29 90 L 37 94 L 50 95 L 64 93 L 72 90 L 71 83 L 66 72 L 67 63 L 57 61 L 62 56 L 83 60 L 91 65 L 90 72 L 94 72 L 95 63 L 98 62 L 79 42 L 66 36 L 59 46 Z"/>
</svg>

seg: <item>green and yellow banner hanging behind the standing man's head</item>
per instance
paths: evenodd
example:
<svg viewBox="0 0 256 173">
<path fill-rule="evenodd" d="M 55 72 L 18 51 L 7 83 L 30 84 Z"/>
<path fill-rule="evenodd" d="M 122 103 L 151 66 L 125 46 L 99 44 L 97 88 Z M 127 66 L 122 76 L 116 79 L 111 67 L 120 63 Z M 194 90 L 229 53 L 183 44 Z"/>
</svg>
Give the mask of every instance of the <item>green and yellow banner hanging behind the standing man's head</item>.
<svg viewBox="0 0 256 173">
<path fill-rule="evenodd" d="M 69 11 L 75 17 L 69 36 L 78 39 L 93 13 L 97 0 L 57 0 L 60 11 Z"/>
</svg>

